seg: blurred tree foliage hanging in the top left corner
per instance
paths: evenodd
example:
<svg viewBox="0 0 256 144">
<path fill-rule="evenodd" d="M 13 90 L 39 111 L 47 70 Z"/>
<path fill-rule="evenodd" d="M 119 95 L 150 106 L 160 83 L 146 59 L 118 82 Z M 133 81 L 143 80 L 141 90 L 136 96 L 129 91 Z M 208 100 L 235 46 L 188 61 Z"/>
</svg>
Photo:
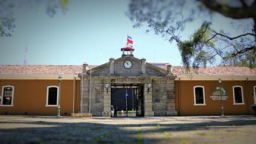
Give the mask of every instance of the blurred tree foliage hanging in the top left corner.
<svg viewBox="0 0 256 144">
<path fill-rule="evenodd" d="M 46 14 L 48 14 L 49 17 L 54 17 L 58 9 L 61 9 L 63 12 L 67 11 L 67 5 L 69 2 L 70 0 L 0 0 L 0 37 L 13 36 L 15 29 L 15 19 L 13 17 L 13 13 L 15 12 L 15 8 L 20 8 L 24 5 L 30 5 L 30 8 L 45 5 Z"/>
</svg>

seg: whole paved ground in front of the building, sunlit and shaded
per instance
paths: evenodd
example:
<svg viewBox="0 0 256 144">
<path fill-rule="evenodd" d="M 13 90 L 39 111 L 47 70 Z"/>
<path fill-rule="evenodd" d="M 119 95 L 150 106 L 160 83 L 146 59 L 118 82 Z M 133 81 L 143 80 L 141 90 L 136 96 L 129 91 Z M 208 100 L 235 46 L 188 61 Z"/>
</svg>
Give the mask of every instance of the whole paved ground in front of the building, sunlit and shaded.
<svg viewBox="0 0 256 144">
<path fill-rule="evenodd" d="M 0 115 L 0 143 L 256 143 L 256 117 Z"/>
</svg>

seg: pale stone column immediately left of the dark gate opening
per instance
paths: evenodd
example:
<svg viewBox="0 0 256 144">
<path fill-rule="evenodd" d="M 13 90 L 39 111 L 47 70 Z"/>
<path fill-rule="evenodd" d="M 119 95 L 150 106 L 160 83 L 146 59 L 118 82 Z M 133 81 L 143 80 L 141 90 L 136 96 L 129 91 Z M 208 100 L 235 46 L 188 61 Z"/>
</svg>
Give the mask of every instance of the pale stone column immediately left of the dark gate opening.
<svg viewBox="0 0 256 144">
<path fill-rule="evenodd" d="M 102 116 L 104 117 L 110 117 L 110 106 L 111 106 L 111 83 L 110 80 L 105 79 L 104 81 L 104 107 L 103 107 L 103 112 L 102 112 Z M 109 84 L 108 89 L 106 87 L 106 84 Z"/>
</svg>

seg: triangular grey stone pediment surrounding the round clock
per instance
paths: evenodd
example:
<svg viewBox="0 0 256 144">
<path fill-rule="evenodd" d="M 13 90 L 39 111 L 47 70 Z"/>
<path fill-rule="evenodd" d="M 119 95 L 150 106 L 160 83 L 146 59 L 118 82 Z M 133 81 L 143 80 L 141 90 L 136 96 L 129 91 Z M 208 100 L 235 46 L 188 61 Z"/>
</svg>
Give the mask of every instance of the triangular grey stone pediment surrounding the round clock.
<svg viewBox="0 0 256 144">
<path fill-rule="evenodd" d="M 132 62 L 132 67 L 125 68 L 124 61 Z M 116 60 L 110 58 L 110 62 L 92 68 L 91 72 L 92 76 L 166 76 L 167 70 L 145 61 L 145 59 L 140 60 L 131 56 L 121 57 Z M 144 71 L 143 67 L 145 67 Z M 88 70 L 87 73 L 89 74 L 90 71 Z"/>
</svg>

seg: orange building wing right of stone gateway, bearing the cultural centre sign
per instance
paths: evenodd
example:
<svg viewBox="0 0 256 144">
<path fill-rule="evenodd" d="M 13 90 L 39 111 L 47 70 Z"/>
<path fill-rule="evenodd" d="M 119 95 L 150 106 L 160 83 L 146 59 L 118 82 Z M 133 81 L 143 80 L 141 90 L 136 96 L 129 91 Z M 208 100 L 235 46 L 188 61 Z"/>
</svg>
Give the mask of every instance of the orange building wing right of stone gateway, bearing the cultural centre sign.
<svg viewBox="0 0 256 144">
<path fill-rule="evenodd" d="M 178 115 L 220 115 L 219 78 L 224 115 L 254 114 L 251 105 L 256 104 L 255 71 L 246 67 L 200 67 L 189 78 L 180 69 L 174 69 Z M 200 99 L 198 95 L 203 101 L 196 100 Z"/>
</svg>

